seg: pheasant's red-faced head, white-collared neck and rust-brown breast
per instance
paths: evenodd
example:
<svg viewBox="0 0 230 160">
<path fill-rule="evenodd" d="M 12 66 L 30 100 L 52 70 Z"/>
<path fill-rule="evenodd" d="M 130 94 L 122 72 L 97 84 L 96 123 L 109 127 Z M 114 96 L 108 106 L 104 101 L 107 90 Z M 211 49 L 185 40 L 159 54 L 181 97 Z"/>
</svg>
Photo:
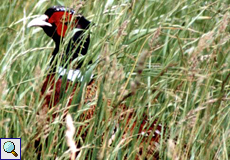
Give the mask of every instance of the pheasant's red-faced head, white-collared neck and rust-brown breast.
<svg viewBox="0 0 230 160">
<path fill-rule="evenodd" d="M 52 59 L 50 61 L 50 74 L 46 77 L 46 80 L 42 86 L 42 95 L 49 92 L 45 96 L 44 106 L 55 106 L 60 100 L 61 84 L 63 83 L 63 76 L 67 76 L 66 88 L 68 88 L 70 81 L 80 81 L 83 79 L 83 75 L 79 68 L 83 62 L 78 63 L 75 70 L 67 70 L 68 64 L 78 57 L 81 53 L 85 55 L 90 43 L 90 36 L 84 35 L 89 28 L 90 22 L 81 15 L 76 15 L 73 9 L 68 9 L 62 6 L 54 6 L 46 10 L 45 14 L 32 20 L 28 27 L 39 26 L 44 32 L 53 39 L 55 42 L 55 49 L 52 53 Z M 67 45 L 65 54 L 58 54 L 60 45 L 62 44 L 64 37 L 66 36 L 67 29 L 78 28 L 73 37 L 70 38 Z M 56 68 L 60 58 L 61 64 L 64 67 Z M 65 63 L 67 62 L 67 63 Z M 55 72 L 58 72 L 59 79 L 55 81 Z M 76 80 L 77 79 L 77 80 Z M 93 84 L 93 83 L 91 83 Z M 63 85 L 63 84 L 62 84 Z M 50 93 L 55 89 L 54 96 Z M 71 103 L 71 101 L 69 102 Z"/>
</svg>

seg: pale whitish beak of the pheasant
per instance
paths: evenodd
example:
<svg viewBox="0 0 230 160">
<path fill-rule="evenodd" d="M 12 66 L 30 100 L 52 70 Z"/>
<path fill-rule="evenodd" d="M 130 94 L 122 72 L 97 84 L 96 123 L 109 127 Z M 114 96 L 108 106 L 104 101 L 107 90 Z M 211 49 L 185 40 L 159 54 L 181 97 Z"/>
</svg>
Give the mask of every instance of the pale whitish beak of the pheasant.
<svg viewBox="0 0 230 160">
<path fill-rule="evenodd" d="M 28 28 L 29 27 L 44 27 L 44 26 L 52 27 L 52 25 L 47 22 L 48 18 L 49 17 L 47 15 L 41 15 L 33 19 L 32 21 L 30 21 L 27 27 Z"/>
</svg>

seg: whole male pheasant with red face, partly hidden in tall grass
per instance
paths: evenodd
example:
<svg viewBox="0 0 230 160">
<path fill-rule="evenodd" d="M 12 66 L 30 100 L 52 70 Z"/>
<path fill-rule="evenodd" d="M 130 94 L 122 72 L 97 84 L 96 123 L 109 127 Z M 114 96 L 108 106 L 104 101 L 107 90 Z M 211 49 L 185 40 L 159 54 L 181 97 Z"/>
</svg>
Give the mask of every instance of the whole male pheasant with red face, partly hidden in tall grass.
<svg viewBox="0 0 230 160">
<path fill-rule="evenodd" d="M 73 86 L 72 94 L 70 94 L 70 98 L 68 101 L 68 104 L 71 104 L 71 101 L 73 99 L 74 92 L 76 91 L 76 83 L 81 83 L 81 79 L 83 75 L 80 72 L 80 67 L 82 66 L 82 62 L 78 63 L 75 70 L 68 70 L 68 65 L 71 62 L 73 62 L 79 54 L 85 55 L 87 54 L 87 50 L 90 43 L 90 35 L 87 30 L 90 27 L 90 21 L 88 21 L 84 16 L 75 14 L 75 11 L 73 9 L 65 8 L 62 6 L 54 6 L 46 10 L 45 14 L 35 18 L 32 20 L 29 24 L 29 27 L 38 26 L 41 27 L 44 32 L 53 39 L 55 42 L 55 49 L 52 53 L 52 59 L 50 62 L 50 74 L 46 77 L 46 80 L 42 86 L 41 94 L 45 97 L 44 107 L 50 108 L 52 106 L 55 106 L 60 101 L 60 94 L 63 90 L 63 76 L 66 76 L 68 81 L 64 87 L 65 90 L 68 89 L 69 86 Z M 67 30 L 73 30 L 74 28 L 80 29 L 78 32 L 74 33 L 73 37 L 70 38 L 65 54 L 62 56 L 59 56 L 59 48 L 60 45 L 63 43 L 63 40 L 65 39 L 65 36 L 67 34 Z M 61 63 L 63 66 L 57 68 L 58 60 L 61 59 Z M 55 75 L 59 74 L 58 80 L 55 80 Z M 92 78 L 92 77 L 91 77 Z M 76 80 L 78 79 L 78 80 Z M 50 92 L 53 91 L 54 94 L 50 94 Z M 97 91 L 97 87 L 94 83 L 94 80 L 91 80 L 87 84 L 87 90 L 86 90 L 86 101 L 90 100 L 95 97 Z M 108 105 L 110 102 L 108 102 Z M 124 110 L 124 105 L 119 106 L 121 110 Z M 87 116 L 84 116 L 84 119 L 86 118 L 92 118 L 94 114 L 95 106 L 92 106 L 90 110 L 87 111 Z M 126 112 L 124 112 L 126 113 Z M 132 133 L 132 130 L 135 128 L 135 125 L 137 122 L 130 123 L 132 120 L 133 112 L 127 112 L 126 117 L 128 117 L 128 120 L 126 121 L 126 126 L 123 126 L 121 128 L 123 129 L 129 129 L 129 131 L 124 131 L 124 136 L 127 134 L 127 132 Z M 122 115 L 124 117 L 125 115 Z M 121 121 L 122 121 L 121 117 Z M 146 127 L 148 126 L 148 127 Z M 149 139 L 147 136 L 146 141 L 151 142 L 150 145 L 154 145 L 155 142 L 159 141 L 161 132 L 161 126 L 156 125 L 156 122 L 149 122 L 147 117 L 144 118 L 141 125 L 139 125 L 139 135 L 146 136 L 151 135 L 152 138 Z M 142 143 L 144 144 L 145 139 L 142 140 Z M 153 147 L 153 146 L 152 146 Z M 152 148 L 150 147 L 150 148 Z M 154 148 L 154 147 L 153 147 Z M 152 149 L 149 149 L 150 153 L 154 152 Z"/>
</svg>

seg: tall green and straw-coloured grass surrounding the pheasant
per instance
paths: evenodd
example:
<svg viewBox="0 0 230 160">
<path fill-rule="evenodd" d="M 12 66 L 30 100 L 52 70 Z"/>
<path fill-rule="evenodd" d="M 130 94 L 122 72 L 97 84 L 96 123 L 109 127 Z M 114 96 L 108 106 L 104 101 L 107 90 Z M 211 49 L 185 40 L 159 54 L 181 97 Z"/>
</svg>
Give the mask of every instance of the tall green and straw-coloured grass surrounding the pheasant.
<svg viewBox="0 0 230 160">
<path fill-rule="evenodd" d="M 78 159 L 135 158 L 141 143 L 135 132 L 128 135 L 128 145 L 122 142 L 122 131 L 108 145 L 119 103 L 135 111 L 133 120 L 146 114 L 149 121 L 162 124 L 155 147 L 159 159 L 230 158 L 229 1 L 2 0 L 0 137 L 20 137 L 23 159 L 36 159 L 37 136 L 47 138 L 43 159 L 70 158 L 61 120 L 65 97 L 55 120 L 43 124 L 45 115 L 36 116 L 54 43 L 27 24 L 53 5 L 73 7 L 94 23 L 85 58 L 96 66 L 100 90 L 92 101 L 97 104 L 93 119 L 79 120 L 88 104 L 70 112 L 76 129 L 89 123 L 85 140 L 75 133 L 74 141 L 81 143 Z M 111 106 L 102 99 L 111 99 Z M 154 158 L 145 152 L 139 159 Z"/>
</svg>

